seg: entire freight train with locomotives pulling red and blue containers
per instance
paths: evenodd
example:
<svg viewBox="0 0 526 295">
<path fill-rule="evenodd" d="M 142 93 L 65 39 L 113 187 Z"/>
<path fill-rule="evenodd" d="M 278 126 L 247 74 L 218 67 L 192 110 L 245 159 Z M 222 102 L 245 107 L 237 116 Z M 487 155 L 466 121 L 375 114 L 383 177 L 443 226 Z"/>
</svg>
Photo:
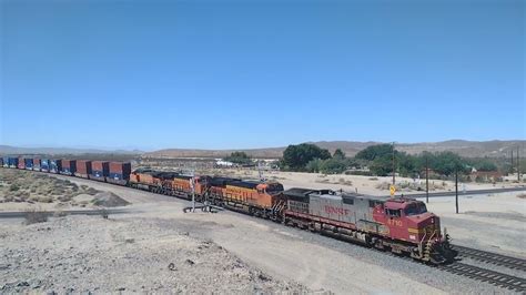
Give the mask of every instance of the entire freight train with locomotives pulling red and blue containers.
<svg viewBox="0 0 526 295">
<path fill-rule="evenodd" d="M 131 171 L 130 163 L 6 156 L 3 167 L 24 169 L 127 185 L 195 199 L 229 210 L 273 220 L 415 260 L 443 264 L 455 258 L 441 220 L 421 201 L 367 196 L 330 190 L 290 189 L 277 182 L 220 176 L 190 176 L 151 169 Z"/>
</svg>

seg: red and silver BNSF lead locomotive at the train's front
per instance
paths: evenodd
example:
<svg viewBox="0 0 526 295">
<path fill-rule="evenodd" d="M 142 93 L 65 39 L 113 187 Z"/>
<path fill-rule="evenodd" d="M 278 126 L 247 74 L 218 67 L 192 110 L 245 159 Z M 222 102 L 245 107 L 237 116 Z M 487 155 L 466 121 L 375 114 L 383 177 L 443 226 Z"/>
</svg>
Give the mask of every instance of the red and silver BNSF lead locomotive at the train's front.
<svg viewBox="0 0 526 295">
<path fill-rule="evenodd" d="M 441 231 L 441 220 L 413 199 L 291 189 L 283 222 L 434 264 L 456 253 Z"/>
</svg>

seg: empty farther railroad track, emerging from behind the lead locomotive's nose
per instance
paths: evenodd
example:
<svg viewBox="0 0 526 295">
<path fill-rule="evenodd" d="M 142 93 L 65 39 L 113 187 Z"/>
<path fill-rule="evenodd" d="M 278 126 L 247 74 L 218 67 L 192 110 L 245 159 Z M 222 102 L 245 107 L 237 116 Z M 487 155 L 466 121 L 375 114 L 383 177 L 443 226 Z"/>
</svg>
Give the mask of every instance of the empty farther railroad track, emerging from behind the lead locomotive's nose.
<svg viewBox="0 0 526 295">
<path fill-rule="evenodd" d="M 458 251 L 459 257 L 472 258 L 488 264 L 499 265 L 512 269 L 526 272 L 526 260 L 510 257 L 497 253 L 486 252 L 482 250 L 454 245 L 454 250 Z"/>
</svg>

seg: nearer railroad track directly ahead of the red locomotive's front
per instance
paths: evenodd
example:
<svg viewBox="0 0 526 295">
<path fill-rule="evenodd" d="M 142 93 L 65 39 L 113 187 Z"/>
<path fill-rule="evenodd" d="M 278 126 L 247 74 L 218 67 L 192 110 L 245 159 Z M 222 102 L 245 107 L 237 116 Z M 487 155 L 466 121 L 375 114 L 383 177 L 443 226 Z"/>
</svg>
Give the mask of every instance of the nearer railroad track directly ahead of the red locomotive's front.
<svg viewBox="0 0 526 295">
<path fill-rule="evenodd" d="M 441 265 L 439 268 L 456 275 L 487 282 L 503 288 L 513 289 L 520 293 L 526 292 L 526 279 L 513 275 L 507 275 L 459 262 L 448 265 Z"/>
</svg>

